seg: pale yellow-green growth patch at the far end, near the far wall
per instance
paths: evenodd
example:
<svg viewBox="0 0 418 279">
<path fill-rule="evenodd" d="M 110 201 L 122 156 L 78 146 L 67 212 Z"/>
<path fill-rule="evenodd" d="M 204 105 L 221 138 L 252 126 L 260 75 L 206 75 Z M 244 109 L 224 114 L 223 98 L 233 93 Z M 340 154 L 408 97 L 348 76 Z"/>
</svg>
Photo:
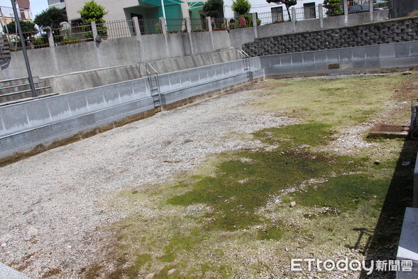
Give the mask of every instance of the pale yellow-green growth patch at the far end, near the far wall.
<svg viewBox="0 0 418 279">
<path fill-rule="evenodd" d="M 286 113 L 304 121 L 332 124 L 339 130 L 373 118 L 375 112 L 385 106 L 394 89 L 409 78 L 408 75 L 392 75 L 274 80 L 270 83 L 275 88 L 263 92 L 269 94 L 269 98 L 259 98 L 256 105 L 262 110 Z"/>
</svg>

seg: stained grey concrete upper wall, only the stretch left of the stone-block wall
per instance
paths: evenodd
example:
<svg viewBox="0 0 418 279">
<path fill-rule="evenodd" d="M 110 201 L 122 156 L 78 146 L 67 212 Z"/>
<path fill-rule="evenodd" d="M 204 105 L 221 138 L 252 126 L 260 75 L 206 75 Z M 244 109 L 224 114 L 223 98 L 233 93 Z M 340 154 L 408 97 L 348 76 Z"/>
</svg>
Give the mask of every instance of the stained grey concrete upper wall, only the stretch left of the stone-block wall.
<svg viewBox="0 0 418 279">
<path fill-rule="evenodd" d="M 33 75 L 48 77 L 65 73 L 132 65 L 203 54 L 231 47 L 226 31 L 134 36 L 29 50 Z M 2 61 L 0 80 L 26 77 L 22 52 Z"/>
</svg>

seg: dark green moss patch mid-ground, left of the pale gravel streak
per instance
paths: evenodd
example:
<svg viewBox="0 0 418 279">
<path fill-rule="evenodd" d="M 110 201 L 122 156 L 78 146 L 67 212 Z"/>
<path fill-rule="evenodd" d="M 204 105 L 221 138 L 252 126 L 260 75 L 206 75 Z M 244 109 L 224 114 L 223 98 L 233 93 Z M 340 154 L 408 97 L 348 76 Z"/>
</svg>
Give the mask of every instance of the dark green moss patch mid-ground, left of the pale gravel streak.
<svg viewBox="0 0 418 279">
<path fill-rule="evenodd" d="M 263 222 L 256 209 L 279 190 L 312 177 L 322 176 L 336 164 L 331 157 L 309 152 L 281 154 L 279 151 L 241 151 L 238 158 L 220 163 L 213 176 L 192 184 L 192 190 L 167 200 L 168 204 L 188 206 L 208 204 L 208 229 L 245 229 Z"/>
</svg>

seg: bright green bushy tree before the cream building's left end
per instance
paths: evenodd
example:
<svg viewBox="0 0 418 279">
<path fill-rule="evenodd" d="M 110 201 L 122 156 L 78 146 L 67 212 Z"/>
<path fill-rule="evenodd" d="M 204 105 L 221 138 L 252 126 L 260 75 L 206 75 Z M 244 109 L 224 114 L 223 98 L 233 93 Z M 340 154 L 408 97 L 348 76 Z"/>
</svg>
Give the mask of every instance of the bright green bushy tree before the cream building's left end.
<svg viewBox="0 0 418 279">
<path fill-rule="evenodd" d="M 105 22 L 103 20 L 104 15 L 107 15 L 107 12 L 104 11 L 104 7 L 96 3 L 94 0 L 88 1 L 84 4 L 81 10 L 78 10 L 78 13 L 82 16 L 83 24 L 88 25 L 91 22 L 99 24 L 97 27 L 98 34 L 100 36 L 107 36 L 107 27 L 103 25 Z M 92 38 L 92 33 L 85 33 L 85 37 Z"/>
</svg>

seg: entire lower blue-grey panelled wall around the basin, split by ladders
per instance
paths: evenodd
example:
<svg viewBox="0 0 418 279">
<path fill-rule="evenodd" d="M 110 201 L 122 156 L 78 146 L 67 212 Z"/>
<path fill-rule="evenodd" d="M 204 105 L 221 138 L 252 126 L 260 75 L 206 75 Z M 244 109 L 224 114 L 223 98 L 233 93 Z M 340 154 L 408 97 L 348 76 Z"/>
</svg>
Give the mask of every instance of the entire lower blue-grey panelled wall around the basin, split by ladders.
<svg viewBox="0 0 418 279">
<path fill-rule="evenodd" d="M 418 41 L 263 56 L 250 59 L 250 63 L 255 78 L 417 67 Z M 175 107 L 184 100 L 244 84 L 249 80 L 244 69 L 240 60 L 162 74 L 162 105 Z M 0 107 L 0 159 L 88 130 L 98 133 L 100 127 L 139 114 L 154 114 L 146 78 Z"/>
</svg>

